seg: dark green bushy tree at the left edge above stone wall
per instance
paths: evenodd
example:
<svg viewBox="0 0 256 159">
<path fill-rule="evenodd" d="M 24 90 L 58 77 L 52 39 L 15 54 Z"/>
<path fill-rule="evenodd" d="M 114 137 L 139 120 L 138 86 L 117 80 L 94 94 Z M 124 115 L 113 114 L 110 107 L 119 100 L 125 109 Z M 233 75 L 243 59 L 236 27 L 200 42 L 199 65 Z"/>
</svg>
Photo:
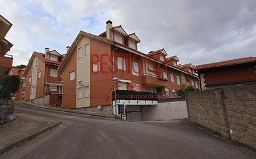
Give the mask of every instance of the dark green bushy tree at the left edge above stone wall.
<svg viewBox="0 0 256 159">
<path fill-rule="evenodd" d="M 5 75 L 0 77 L 0 99 L 10 99 L 11 93 L 19 91 L 21 78 L 19 75 Z"/>
</svg>

